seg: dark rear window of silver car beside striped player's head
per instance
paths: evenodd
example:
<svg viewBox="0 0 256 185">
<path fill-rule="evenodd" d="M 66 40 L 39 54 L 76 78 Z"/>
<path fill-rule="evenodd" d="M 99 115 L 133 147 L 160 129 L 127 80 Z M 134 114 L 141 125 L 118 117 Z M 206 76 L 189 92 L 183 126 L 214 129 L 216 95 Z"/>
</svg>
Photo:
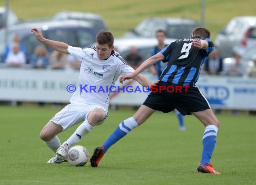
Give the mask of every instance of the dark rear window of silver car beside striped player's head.
<svg viewBox="0 0 256 185">
<path fill-rule="evenodd" d="M 167 31 L 166 31 L 166 36 L 168 38 L 176 38 L 176 39 L 181 39 L 181 38 L 190 38 L 191 32 L 195 27 L 198 25 L 185 25 L 185 24 L 176 24 L 176 25 L 168 25 Z"/>
</svg>

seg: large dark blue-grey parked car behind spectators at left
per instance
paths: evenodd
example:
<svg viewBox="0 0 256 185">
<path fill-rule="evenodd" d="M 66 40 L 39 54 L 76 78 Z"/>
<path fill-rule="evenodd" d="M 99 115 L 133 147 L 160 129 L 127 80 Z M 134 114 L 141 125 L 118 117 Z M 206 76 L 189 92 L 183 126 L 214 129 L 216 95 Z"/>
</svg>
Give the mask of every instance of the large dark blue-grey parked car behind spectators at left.
<svg viewBox="0 0 256 185">
<path fill-rule="evenodd" d="M 23 22 L 15 26 L 10 26 L 8 30 L 8 43 L 11 43 L 13 36 L 18 34 L 21 44 L 26 46 L 26 57 L 29 59 L 35 47 L 40 44 L 31 32 L 33 27 L 41 29 L 45 38 L 65 42 L 72 46 L 86 47 L 95 42 L 97 30 L 88 22 L 67 20 L 51 22 Z M 4 34 L 5 30 L 0 30 L 0 55 L 4 53 Z M 50 52 L 51 48 L 47 48 Z"/>
</svg>

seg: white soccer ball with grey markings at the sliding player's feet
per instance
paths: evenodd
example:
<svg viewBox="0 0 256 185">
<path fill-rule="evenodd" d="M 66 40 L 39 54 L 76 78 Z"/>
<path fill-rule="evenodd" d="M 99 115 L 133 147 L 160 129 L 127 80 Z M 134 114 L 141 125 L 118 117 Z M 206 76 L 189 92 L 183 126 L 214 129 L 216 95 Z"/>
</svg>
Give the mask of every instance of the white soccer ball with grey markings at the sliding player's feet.
<svg viewBox="0 0 256 185">
<path fill-rule="evenodd" d="M 71 166 L 84 166 L 89 159 L 89 153 L 84 146 L 73 146 L 67 152 L 67 161 Z"/>
</svg>

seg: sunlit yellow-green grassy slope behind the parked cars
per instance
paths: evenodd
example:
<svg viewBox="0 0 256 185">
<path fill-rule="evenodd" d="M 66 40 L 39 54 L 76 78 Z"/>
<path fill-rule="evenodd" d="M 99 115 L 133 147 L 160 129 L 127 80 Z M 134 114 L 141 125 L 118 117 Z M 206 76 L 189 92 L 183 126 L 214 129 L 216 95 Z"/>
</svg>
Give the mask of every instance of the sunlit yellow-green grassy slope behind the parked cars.
<svg viewBox="0 0 256 185">
<path fill-rule="evenodd" d="M 205 0 L 205 23 L 217 31 L 235 16 L 255 15 L 255 0 Z M 4 6 L 5 0 L 0 0 Z M 134 28 L 141 20 L 152 17 L 185 17 L 201 22 L 201 0 L 10 0 L 10 8 L 20 19 L 52 17 L 62 10 L 100 14 L 115 36 Z"/>
</svg>

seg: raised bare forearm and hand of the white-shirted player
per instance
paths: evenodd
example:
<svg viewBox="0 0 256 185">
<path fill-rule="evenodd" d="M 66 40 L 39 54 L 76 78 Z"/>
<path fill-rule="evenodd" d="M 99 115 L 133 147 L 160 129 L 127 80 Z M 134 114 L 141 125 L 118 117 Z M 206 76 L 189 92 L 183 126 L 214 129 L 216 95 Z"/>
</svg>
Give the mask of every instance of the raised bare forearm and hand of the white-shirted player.
<svg viewBox="0 0 256 185">
<path fill-rule="evenodd" d="M 54 41 L 54 40 L 45 39 L 43 37 L 42 32 L 38 28 L 33 28 L 31 31 L 34 33 L 35 38 L 37 40 L 39 40 L 41 43 L 53 48 L 54 50 L 56 50 L 58 52 L 69 54 L 69 52 L 67 50 L 67 48 L 69 46 L 68 44 L 66 44 L 64 42 L 58 42 L 58 41 Z"/>
</svg>

